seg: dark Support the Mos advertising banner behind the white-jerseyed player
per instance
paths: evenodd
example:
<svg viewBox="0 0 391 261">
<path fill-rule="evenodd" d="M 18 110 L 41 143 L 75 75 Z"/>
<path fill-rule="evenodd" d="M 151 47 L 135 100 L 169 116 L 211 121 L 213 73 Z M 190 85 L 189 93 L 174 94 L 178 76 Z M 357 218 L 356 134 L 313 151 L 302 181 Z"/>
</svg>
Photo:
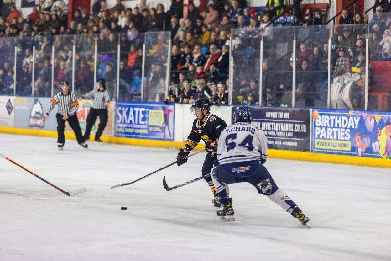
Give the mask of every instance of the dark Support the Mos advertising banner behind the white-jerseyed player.
<svg viewBox="0 0 391 261">
<path fill-rule="evenodd" d="M 250 108 L 251 123 L 264 131 L 269 149 L 310 151 L 309 109 Z"/>
</svg>

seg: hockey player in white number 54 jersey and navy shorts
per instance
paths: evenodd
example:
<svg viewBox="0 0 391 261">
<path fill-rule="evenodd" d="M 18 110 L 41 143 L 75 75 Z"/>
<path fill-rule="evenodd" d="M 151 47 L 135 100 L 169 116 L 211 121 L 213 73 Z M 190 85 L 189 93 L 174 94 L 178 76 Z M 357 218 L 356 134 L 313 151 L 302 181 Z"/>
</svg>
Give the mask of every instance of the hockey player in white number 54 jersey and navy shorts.
<svg viewBox="0 0 391 261">
<path fill-rule="evenodd" d="M 263 166 L 267 159 L 267 138 L 264 132 L 251 124 L 248 106 L 239 106 L 233 114 L 232 125 L 220 135 L 217 146 L 217 160 L 211 171 L 212 180 L 222 204 L 217 216 L 222 220 L 234 221 L 232 198 L 228 184 L 248 182 L 258 193 L 267 196 L 280 205 L 301 224 L 310 227 L 301 209 L 279 189 L 270 173 Z"/>
</svg>

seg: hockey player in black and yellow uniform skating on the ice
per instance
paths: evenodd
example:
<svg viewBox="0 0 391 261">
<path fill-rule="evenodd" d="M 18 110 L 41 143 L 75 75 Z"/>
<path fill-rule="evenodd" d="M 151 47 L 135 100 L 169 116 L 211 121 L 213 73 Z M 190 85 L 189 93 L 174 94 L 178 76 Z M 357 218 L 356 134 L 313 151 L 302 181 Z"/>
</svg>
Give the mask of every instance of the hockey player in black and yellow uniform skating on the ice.
<svg viewBox="0 0 391 261">
<path fill-rule="evenodd" d="M 202 175 L 207 175 L 213 167 L 213 161 L 217 159 L 217 144 L 219 142 L 220 133 L 227 124 L 210 112 L 210 103 L 206 98 L 199 98 L 194 101 L 191 107 L 191 111 L 194 112 L 197 119 L 193 122 L 193 127 L 190 134 L 187 137 L 185 148 L 180 149 L 178 157 L 176 157 L 177 164 L 180 166 L 187 162 L 189 151 L 194 149 L 198 142 L 202 139 L 205 142 L 205 150 L 208 151 L 206 154 L 204 164 L 202 166 Z M 205 178 L 208 182 L 210 189 L 214 195 L 212 202 L 215 207 L 221 207 L 221 203 L 216 193 L 215 185 L 212 182 L 212 178 Z"/>
</svg>

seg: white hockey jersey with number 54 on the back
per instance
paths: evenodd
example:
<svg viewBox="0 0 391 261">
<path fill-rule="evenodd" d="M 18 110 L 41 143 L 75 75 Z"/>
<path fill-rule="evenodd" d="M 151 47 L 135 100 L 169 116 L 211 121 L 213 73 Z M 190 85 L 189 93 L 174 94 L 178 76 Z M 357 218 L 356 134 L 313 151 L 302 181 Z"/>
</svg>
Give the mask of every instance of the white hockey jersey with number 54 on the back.
<svg viewBox="0 0 391 261">
<path fill-rule="evenodd" d="M 267 138 L 261 128 L 237 122 L 219 137 L 217 160 L 224 171 L 239 178 L 253 175 L 267 159 Z"/>
</svg>

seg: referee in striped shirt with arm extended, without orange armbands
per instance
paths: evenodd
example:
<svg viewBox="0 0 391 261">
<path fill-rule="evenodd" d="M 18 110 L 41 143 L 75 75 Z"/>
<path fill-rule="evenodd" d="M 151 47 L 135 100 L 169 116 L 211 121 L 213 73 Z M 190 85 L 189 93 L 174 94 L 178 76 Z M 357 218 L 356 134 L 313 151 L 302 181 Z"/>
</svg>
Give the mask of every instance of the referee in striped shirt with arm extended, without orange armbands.
<svg viewBox="0 0 391 261">
<path fill-rule="evenodd" d="M 98 125 L 98 130 L 95 133 L 95 142 L 102 143 L 100 135 L 102 135 L 102 132 L 106 127 L 108 118 L 107 108 L 109 106 L 109 101 L 111 100 L 110 92 L 106 86 L 104 79 L 99 79 L 96 83 L 96 88 L 91 92 L 84 94 L 82 97 L 79 98 L 79 100 L 89 99 L 90 97 L 94 98 L 94 102 L 87 116 L 86 132 L 84 132 L 84 139 L 90 139 L 91 128 L 95 124 L 95 121 L 99 116 L 100 122 Z"/>
</svg>

